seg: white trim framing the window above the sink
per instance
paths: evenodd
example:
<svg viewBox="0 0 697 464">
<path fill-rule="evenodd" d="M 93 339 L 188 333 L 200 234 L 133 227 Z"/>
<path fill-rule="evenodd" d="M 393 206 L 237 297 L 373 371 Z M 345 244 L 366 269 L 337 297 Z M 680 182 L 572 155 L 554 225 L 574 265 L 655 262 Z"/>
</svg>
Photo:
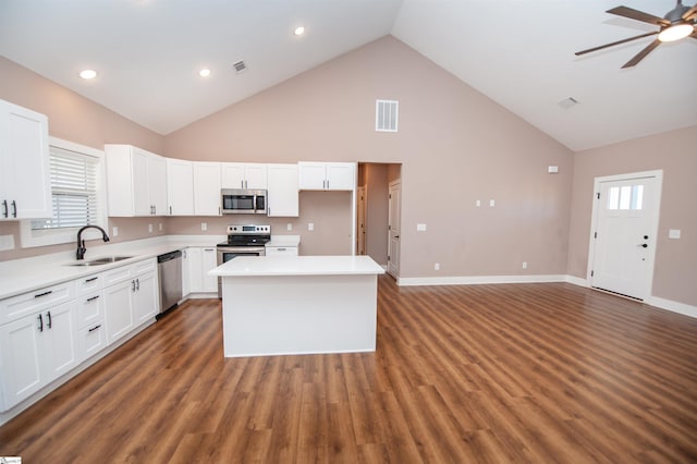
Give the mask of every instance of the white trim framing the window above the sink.
<svg viewBox="0 0 697 464">
<path fill-rule="evenodd" d="M 68 151 L 74 151 L 81 155 L 88 155 L 95 158 L 99 158 L 99 191 L 97 196 L 101 203 L 101 217 L 97 225 L 107 229 L 107 183 L 106 183 L 106 159 L 105 152 L 96 148 L 80 145 L 74 142 L 63 141 L 58 137 L 49 137 L 49 146 L 60 148 Z M 30 248 L 35 246 L 58 245 L 62 243 L 71 243 L 76 240 L 75 230 L 70 231 L 53 231 L 53 233 L 42 233 L 35 235 L 32 232 L 32 220 L 26 219 L 20 221 L 20 244 L 22 248 Z M 85 240 L 101 239 L 101 233 L 95 230 L 87 230 L 83 235 Z"/>
</svg>

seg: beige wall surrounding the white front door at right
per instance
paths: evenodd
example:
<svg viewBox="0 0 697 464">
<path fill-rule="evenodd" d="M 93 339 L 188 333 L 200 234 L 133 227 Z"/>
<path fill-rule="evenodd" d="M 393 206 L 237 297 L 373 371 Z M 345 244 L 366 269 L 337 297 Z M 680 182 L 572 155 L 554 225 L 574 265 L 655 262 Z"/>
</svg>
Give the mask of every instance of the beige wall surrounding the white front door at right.
<svg viewBox="0 0 697 464">
<path fill-rule="evenodd" d="M 568 273 L 586 277 L 594 180 L 663 170 L 653 296 L 697 305 L 697 126 L 580 151 L 575 156 Z M 681 239 L 668 237 L 680 229 Z"/>
</svg>

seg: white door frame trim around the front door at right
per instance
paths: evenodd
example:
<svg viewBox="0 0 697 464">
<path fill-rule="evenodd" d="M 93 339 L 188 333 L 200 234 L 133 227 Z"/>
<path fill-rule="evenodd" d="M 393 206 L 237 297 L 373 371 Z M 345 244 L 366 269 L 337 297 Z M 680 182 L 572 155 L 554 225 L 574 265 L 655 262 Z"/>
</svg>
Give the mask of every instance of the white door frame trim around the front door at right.
<svg viewBox="0 0 697 464">
<path fill-rule="evenodd" d="M 626 174 L 615 174 L 615 175 L 604 175 L 604 176 L 600 176 L 600 178 L 595 178 L 594 180 L 594 184 L 592 184 L 592 211 L 590 213 L 590 231 L 588 234 L 588 264 L 586 267 L 586 281 L 588 282 L 588 285 L 590 285 L 590 282 L 592 282 L 592 276 L 590 276 L 590 273 L 592 272 L 592 268 L 594 268 L 594 264 L 595 264 L 595 259 L 596 259 L 596 241 L 594 237 L 595 232 L 598 230 L 597 229 L 597 223 L 598 223 L 598 194 L 600 193 L 600 184 L 603 182 L 615 182 L 615 181 L 626 181 L 626 180 L 631 180 L 631 179 L 645 179 L 645 178 L 655 178 L 656 182 L 657 182 L 657 196 L 656 196 L 656 221 L 653 223 L 653 231 L 651 231 L 652 234 L 652 246 L 650 248 L 650 253 L 649 253 L 649 261 L 650 261 L 650 266 L 649 266 L 649 278 L 648 280 L 648 288 L 645 291 L 645 295 L 651 295 L 651 291 L 653 290 L 652 285 L 653 285 L 653 271 L 656 269 L 656 244 L 658 243 L 658 225 L 660 222 L 660 216 L 661 216 L 661 195 L 662 195 L 662 191 L 663 191 L 663 170 L 662 169 L 657 169 L 655 171 L 641 171 L 641 172 L 631 172 L 631 173 L 626 173 Z"/>
</svg>

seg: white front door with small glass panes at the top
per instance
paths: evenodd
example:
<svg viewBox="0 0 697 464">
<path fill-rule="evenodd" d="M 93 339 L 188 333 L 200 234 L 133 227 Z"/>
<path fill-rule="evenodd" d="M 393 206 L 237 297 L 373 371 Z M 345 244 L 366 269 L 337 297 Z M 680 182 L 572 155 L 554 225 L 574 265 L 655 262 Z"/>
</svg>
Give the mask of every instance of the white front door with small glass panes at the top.
<svg viewBox="0 0 697 464">
<path fill-rule="evenodd" d="M 590 284 L 644 300 L 650 295 L 660 173 L 597 180 Z"/>
</svg>

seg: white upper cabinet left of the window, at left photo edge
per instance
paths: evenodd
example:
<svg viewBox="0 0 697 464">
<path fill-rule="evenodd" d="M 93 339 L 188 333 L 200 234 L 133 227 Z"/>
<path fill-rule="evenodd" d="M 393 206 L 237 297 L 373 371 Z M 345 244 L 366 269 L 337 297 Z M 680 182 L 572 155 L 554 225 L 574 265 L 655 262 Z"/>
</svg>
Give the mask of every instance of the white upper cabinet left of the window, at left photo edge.
<svg viewBox="0 0 697 464">
<path fill-rule="evenodd" d="M 51 216 L 48 118 L 0 100 L 0 220 Z"/>
</svg>

